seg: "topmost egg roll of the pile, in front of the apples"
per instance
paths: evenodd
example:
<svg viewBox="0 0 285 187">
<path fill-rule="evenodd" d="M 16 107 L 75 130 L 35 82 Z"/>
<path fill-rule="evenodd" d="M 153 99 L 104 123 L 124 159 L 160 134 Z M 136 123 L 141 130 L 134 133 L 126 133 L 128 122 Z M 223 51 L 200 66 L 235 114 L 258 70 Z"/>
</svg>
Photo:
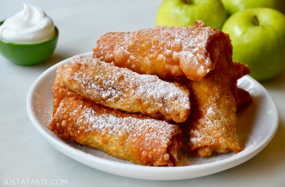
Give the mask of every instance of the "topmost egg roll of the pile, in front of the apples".
<svg viewBox="0 0 285 187">
<path fill-rule="evenodd" d="M 109 32 L 97 41 L 93 58 L 164 80 L 181 76 L 201 80 L 214 69 L 220 44 L 227 38 L 228 34 L 205 27 L 202 21 L 184 28 Z"/>
</svg>

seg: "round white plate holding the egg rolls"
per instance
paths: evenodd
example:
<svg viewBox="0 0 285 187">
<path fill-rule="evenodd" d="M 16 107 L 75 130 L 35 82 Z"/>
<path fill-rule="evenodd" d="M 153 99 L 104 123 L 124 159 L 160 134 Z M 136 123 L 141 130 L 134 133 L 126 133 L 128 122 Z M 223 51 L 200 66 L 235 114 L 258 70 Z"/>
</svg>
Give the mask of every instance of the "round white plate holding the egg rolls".
<svg viewBox="0 0 285 187">
<path fill-rule="evenodd" d="M 91 56 L 91 52 L 85 53 Z M 99 150 L 87 148 L 58 138 L 48 128 L 52 118 L 52 83 L 58 65 L 70 62 L 71 58 L 59 62 L 43 72 L 31 86 L 27 97 L 28 116 L 35 128 L 59 152 L 98 170 L 108 173 L 150 180 L 190 179 L 210 175 L 239 165 L 256 156 L 272 139 L 279 122 L 277 107 L 268 92 L 253 78 L 245 76 L 238 86 L 253 97 L 253 104 L 238 114 L 239 134 L 245 142 L 240 153 L 218 154 L 209 158 L 183 157 L 177 167 L 141 166 L 109 156 Z"/>
</svg>

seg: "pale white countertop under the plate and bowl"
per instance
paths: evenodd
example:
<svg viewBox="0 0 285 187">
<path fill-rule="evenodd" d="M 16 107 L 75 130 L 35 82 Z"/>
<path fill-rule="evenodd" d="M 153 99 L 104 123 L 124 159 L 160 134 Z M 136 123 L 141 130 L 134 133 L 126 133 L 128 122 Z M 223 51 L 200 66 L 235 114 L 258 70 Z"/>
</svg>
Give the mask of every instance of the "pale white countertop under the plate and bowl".
<svg viewBox="0 0 285 187">
<path fill-rule="evenodd" d="M 31 124 L 26 97 L 33 81 L 51 65 L 91 51 L 100 35 L 154 27 L 160 0 L 1 0 L 0 19 L 14 15 L 23 2 L 39 5 L 59 30 L 57 48 L 46 62 L 19 66 L 0 56 L 0 186 L 5 180 L 67 180 L 70 187 L 284 187 L 285 72 L 262 83 L 280 113 L 277 133 L 251 160 L 206 177 L 147 181 L 119 177 L 85 166 L 52 148 Z"/>
</svg>

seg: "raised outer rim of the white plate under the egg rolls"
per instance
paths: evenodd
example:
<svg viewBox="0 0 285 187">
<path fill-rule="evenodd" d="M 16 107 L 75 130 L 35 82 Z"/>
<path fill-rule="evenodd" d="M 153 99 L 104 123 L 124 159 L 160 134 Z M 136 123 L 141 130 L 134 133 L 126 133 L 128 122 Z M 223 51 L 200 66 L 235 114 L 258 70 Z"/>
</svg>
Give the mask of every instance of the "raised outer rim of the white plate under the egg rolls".
<svg viewBox="0 0 285 187">
<path fill-rule="evenodd" d="M 92 52 L 83 53 L 80 55 L 85 56 L 91 56 Z M 259 142 L 259 144 L 255 147 L 255 149 L 252 149 L 247 152 L 240 152 L 238 155 L 234 155 L 234 157 L 225 158 L 222 160 L 218 160 L 215 162 L 210 163 L 202 163 L 198 165 L 190 165 L 190 166 L 176 166 L 176 167 L 153 167 L 153 166 L 143 166 L 143 165 L 137 165 L 137 164 L 129 164 L 129 163 L 121 163 L 114 160 L 107 160 L 98 156 L 93 156 L 90 154 L 87 154 L 85 152 L 82 152 L 63 141 L 60 141 L 59 138 L 55 138 L 50 134 L 47 129 L 45 129 L 40 122 L 36 119 L 35 115 L 32 111 L 32 98 L 33 93 L 41 80 L 51 71 L 57 68 L 57 66 L 69 62 L 73 57 L 64 59 L 60 62 L 57 62 L 56 64 L 52 65 L 48 69 L 46 69 L 43 73 L 41 73 L 36 80 L 31 85 L 28 94 L 27 94 L 27 102 L 26 102 L 26 108 L 28 111 L 28 117 L 30 121 L 32 122 L 33 126 L 44 136 L 44 138 L 49 142 L 49 144 L 57 149 L 60 153 L 71 157 L 89 167 L 112 173 L 119 176 L 124 177 L 131 177 L 131 178 L 137 178 L 137 179 L 148 179 L 148 180 L 181 180 L 181 179 L 191 179 L 191 178 L 197 178 L 202 177 L 210 174 L 214 174 L 229 168 L 232 168 L 234 166 L 237 166 L 252 157 L 256 156 L 261 150 L 263 150 L 266 145 L 271 141 L 274 134 L 276 133 L 279 125 L 279 112 L 278 108 L 276 106 L 276 103 L 272 96 L 267 92 L 267 90 L 258 83 L 255 79 L 250 77 L 249 75 L 244 76 L 244 78 L 249 79 L 252 81 L 255 85 L 257 85 L 258 89 L 262 90 L 262 93 L 265 94 L 266 98 L 269 99 L 270 103 L 273 104 L 274 107 L 274 122 L 272 122 L 272 127 L 269 131 L 269 133 L 266 135 L 266 137 Z M 89 155 L 89 156 L 86 156 Z M 96 165 L 94 165 L 96 164 Z M 107 167 L 106 167 L 107 166 Z M 122 168 L 123 167 L 123 170 Z M 110 169 L 111 168 L 111 169 Z M 138 170 L 141 170 L 139 174 Z M 201 171 L 206 170 L 206 172 L 203 172 L 201 174 Z M 118 173 L 116 171 L 122 171 L 122 173 Z M 126 172 L 128 171 L 128 172 Z M 192 172 L 197 172 L 196 175 Z M 159 172 L 159 176 L 156 176 Z M 189 175 L 189 172 L 191 175 Z M 141 175 L 143 173 L 143 175 Z M 177 177 L 174 177 L 173 173 L 179 173 L 180 175 Z M 164 176 L 164 177 L 163 177 Z"/>
</svg>

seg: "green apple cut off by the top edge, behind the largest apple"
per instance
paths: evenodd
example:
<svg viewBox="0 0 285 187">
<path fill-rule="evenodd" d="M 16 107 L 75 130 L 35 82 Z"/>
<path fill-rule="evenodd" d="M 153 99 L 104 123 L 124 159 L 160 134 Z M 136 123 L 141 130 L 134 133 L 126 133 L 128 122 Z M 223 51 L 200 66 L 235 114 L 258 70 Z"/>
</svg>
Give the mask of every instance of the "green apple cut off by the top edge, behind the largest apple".
<svg viewBox="0 0 285 187">
<path fill-rule="evenodd" d="M 249 8 L 274 8 L 285 13 L 285 0 L 222 0 L 228 15 Z"/>
</svg>

